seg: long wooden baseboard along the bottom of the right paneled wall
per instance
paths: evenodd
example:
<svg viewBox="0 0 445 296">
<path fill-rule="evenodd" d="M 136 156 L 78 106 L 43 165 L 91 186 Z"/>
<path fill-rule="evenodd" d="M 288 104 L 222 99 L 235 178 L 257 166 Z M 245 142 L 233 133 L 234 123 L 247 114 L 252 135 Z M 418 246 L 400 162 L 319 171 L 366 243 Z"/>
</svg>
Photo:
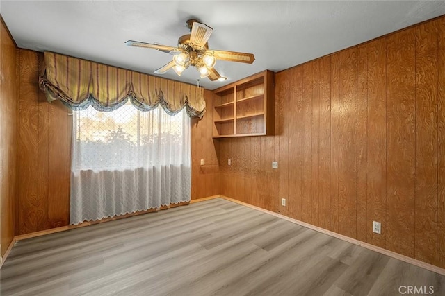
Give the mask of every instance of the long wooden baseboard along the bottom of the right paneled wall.
<svg viewBox="0 0 445 296">
<path fill-rule="evenodd" d="M 402 254 L 398 254 L 396 252 L 392 252 L 392 251 L 386 250 L 386 249 L 384 249 L 382 247 L 378 247 L 376 245 L 371 245 L 369 243 L 364 243 L 363 241 L 358 241 L 355 238 L 350 238 L 348 236 L 343 236 L 342 234 L 337 234 L 336 232 L 331 232 L 330 230 L 327 230 L 327 229 L 324 229 L 324 228 L 321 228 L 321 227 L 317 227 L 317 226 L 311 225 L 309 223 L 305 223 L 305 222 L 302 222 L 300 220 L 296 220 L 296 219 L 290 218 L 288 216 L 284 216 L 282 214 L 275 213 L 274 211 L 268 211 L 267 209 L 262 209 L 261 207 L 256 207 L 256 206 L 254 206 L 252 204 L 248 204 L 248 203 L 245 203 L 245 202 L 241 202 L 239 200 L 235 200 L 234 198 L 228 198 L 227 196 L 224 196 L 224 195 L 220 195 L 220 198 L 224 198 L 225 200 L 229 200 L 229 201 L 235 202 L 237 204 L 242 204 L 245 207 L 250 207 L 252 209 L 256 209 L 258 211 L 262 211 L 264 213 L 276 216 L 278 218 L 282 218 L 283 220 L 287 220 L 289 222 L 296 223 L 296 224 L 301 225 L 303 227 L 307 227 L 309 229 L 315 230 L 316 232 L 321 232 L 321 233 L 327 234 L 329 236 L 334 236 L 335 238 L 339 238 L 339 239 L 341 239 L 343 241 L 347 241 L 348 243 L 353 243 L 353 244 L 359 245 L 361 247 L 366 247 L 366 249 L 378 252 L 380 254 L 384 254 L 384 255 L 390 256 L 390 257 L 392 257 L 394 259 L 405 261 L 406 263 L 410 263 L 412 265 L 419 266 L 420 268 L 424 268 L 424 269 L 430 270 L 432 272 L 436 272 L 439 275 L 445 275 L 445 269 L 444 268 L 439 268 L 436 265 L 425 263 L 423 261 L 420 261 L 420 260 L 417 260 L 417 259 L 413 259 L 411 257 L 408 257 L 408 256 L 405 256 L 405 255 L 402 255 Z"/>
</svg>

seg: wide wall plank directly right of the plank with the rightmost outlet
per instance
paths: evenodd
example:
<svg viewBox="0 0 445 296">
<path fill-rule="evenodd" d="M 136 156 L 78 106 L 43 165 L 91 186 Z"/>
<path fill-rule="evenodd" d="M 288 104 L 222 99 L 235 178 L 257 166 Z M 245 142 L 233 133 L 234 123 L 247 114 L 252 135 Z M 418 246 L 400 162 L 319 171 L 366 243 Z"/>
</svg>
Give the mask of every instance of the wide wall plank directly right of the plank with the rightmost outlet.
<svg viewBox="0 0 445 296">
<path fill-rule="evenodd" d="M 387 37 L 387 249 L 414 257 L 415 32 Z"/>
</svg>

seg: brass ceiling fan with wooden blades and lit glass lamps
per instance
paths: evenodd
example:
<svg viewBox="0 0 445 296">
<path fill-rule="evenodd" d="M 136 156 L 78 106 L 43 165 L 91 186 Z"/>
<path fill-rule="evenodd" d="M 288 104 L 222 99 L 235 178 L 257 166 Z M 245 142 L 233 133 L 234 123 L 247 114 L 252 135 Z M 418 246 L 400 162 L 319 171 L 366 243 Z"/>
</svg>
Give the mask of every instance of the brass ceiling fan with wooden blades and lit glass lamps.
<svg viewBox="0 0 445 296">
<path fill-rule="evenodd" d="M 213 28 L 202 24 L 197 19 L 189 19 L 186 26 L 190 30 L 190 34 L 179 37 L 178 46 L 166 46 L 161 44 L 138 42 L 128 40 L 125 42 L 128 46 L 145 47 L 148 49 L 156 49 L 173 55 L 172 61 L 163 67 L 154 71 L 156 74 L 163 74 L 170 68 L 181 76 L 181 73 L 190 66 L 195 67 L 201 78 L 208 77 L 210 80 L 224 81 L 227 78 L 220 76 L 214 68 L 216 60 L 227 60 L 231 62 L 244 62 L 252 64 L 255 57 L 252 53 L 238 53 L 236 51 L 215 51 L 209 49 L 207 40 Z"/>
</svg>

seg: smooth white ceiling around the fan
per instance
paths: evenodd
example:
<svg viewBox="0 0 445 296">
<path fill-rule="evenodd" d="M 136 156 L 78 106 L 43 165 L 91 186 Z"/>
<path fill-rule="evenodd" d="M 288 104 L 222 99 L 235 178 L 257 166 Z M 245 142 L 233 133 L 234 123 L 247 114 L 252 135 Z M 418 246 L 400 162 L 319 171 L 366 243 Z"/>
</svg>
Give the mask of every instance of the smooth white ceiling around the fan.
<svg viewBox="0 0 445 296">
<path fill-rule="evenodd" d="M 127 40 L 177 45 L 185 21 L 213 28 L 210 49 L 254 53 L 253 64 L 218 61 L 226 82 L 281 71 L 400 28 L 445 14 L 445 1 L 0 1 L 17 46 L 54 51 L 153 74 L 172 56 L 125 46 Z M 189 68 L 165 78 L 195 84 Z"/>
</svg>

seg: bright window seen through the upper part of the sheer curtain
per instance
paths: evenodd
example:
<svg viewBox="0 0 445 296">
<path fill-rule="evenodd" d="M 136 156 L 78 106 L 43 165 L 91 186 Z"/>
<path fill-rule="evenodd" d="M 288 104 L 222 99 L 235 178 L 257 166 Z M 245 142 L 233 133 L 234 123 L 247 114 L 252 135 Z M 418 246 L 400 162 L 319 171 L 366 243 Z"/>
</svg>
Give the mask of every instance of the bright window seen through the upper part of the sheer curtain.
<svg viewBox="0 0 445 296">
<path fill-rule="evenodd" d="M 74 112 L 74 124 L 74 171 L 180 165 L 188 157 L 182 153 L 189 150 L 185 110 L 170 116 L 161 107 L 141 112 L 129 102 L 113 112 L 88 107 Z"/>
</svg>

